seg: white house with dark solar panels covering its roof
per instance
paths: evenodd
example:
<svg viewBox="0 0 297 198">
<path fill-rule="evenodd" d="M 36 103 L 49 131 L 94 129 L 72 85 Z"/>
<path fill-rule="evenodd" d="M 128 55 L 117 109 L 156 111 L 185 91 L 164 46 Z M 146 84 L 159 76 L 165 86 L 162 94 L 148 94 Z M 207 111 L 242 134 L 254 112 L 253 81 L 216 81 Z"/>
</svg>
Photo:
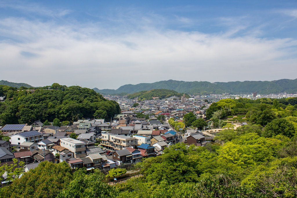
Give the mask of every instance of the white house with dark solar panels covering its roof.
<svg viewBox="0 0 297 198">
<path fill-rule="evenodd" d="M 37 131 L 27 131 L 21 132 L 14 135 L 9 136 L 10 143 L 13 146 L 18 146 L 20 148 L 20 144 L 23 142 L 39 142 L 43 140 L 43 134 Z"/>
</svg>

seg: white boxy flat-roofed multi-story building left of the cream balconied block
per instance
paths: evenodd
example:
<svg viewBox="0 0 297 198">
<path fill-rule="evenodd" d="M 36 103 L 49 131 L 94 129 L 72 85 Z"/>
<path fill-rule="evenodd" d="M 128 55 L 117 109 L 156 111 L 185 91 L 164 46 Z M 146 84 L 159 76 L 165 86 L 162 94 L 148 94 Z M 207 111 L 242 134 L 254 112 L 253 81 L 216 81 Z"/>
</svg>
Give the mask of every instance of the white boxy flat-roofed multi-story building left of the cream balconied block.
<svg viewBox="0 0 297 198">
<path fill-rule="evenodd" d="M 75 158 L 83 158 L 86 156 L 86 143 L 75 140 L 73 138 L 67 137 L 67 138 L 61 138 L 60 139 L 60 145 L 67 150 L 74 153 Z"/>
</svg>

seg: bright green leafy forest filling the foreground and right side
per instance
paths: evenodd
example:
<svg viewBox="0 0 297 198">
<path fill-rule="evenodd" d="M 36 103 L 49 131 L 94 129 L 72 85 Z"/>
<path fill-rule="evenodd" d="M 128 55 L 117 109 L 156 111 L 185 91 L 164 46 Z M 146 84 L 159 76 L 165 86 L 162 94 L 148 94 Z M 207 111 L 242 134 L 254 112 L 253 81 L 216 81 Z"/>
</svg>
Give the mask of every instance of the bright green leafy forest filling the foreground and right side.
<svg viewBox="0 0 297 198">
<path fill-rule="evenodd" d="M 297 197 L 296 103 L 224 99 L 209 116 L 245 113 L 248 125 L 228 123 L 205 147 L 170 146 L 136 165 L 143 177 L 108 186 L 98 170 L 71 174 L 64 162 L 42 162 L 0 197 Z"/>
</svg>

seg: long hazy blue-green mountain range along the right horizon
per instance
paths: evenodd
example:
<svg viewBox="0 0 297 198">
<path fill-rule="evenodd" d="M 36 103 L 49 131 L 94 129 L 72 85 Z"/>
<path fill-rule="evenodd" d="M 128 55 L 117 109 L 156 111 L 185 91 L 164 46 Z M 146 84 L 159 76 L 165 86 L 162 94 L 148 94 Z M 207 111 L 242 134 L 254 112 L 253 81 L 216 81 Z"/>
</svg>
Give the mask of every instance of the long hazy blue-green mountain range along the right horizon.
<svg viewBox="0 0 297 198">
<path fill-rule="evenodd" d="M 186 94 L 250 94 L 257 92 L 258 94 L 277 94 L 277 93 L 296 93 L 297 79 L 281 79 L 273 81 L 236 81 L 236 82 L 215 82 L 207 81 L 178 81 L 178 80 L 163 80 L 155 83 L 140 83 L 137 85 L 123 85 L 118 89 L 98 89 L 93 88 L 94 91 L 100 94 L 133 94 L 139 91 L 148 91 L 151 89 L 170 89 L 179 93 Z"/>
</svg>

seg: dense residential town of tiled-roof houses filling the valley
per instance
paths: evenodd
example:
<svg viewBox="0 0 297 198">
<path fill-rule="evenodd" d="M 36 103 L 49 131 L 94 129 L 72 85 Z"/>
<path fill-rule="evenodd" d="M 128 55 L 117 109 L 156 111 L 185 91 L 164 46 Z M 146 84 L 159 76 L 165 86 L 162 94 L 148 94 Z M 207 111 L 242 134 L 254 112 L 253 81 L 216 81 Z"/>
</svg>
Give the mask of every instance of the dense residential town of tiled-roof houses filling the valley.
<svg viewBox="0 0 297 198">
<path fill-rule="evenodd" d="M 9 138 L 0 141 L 1 165 L 17 159 L 24 162 L 24 171 L 28 172 L 42 161 L 65 161 L 73 170 L 85 167 L 107 173 L 112 168 L 129 167 L 144 158 L 162 155 L 165 148 L 178 142 L 205 146 L 213 140 L 213 134 L 191 128 L 176 130 L 168 120 L 183 122 L 189 112 L 206 120 L 211 102 L 226 96 L 189 99 L 172 96 L 162 100 L 155 97 L 145 101 L 125 96 L 104 97 L 115 100 L 121 108 L 111 122 L 87 118 L 68 126 L 46 126 L 40 120 L 31 125 L 1 126 L 1 134 Z M 5 179 L 4 175 L 1 186 L 6 185 Z"/>
</svg>

